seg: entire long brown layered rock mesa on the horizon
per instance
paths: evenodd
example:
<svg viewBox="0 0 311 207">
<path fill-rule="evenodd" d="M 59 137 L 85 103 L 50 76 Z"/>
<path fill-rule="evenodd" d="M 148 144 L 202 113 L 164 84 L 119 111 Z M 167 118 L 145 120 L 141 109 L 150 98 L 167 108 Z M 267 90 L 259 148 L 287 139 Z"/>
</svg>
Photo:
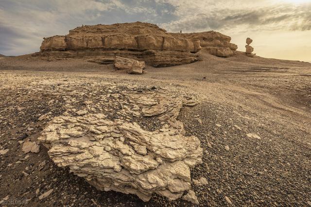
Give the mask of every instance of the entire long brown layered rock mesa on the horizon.
<svg viewBox="0 0 311 207">
<path fill-rule="evenodd" d="M 214 55 L 232 55 L 237 46 L 231 38 L 217 32 L 167 33 L 155 24 L 123 23 L 77 27 L 68 35 L 44 38 L 39 55 L 50 60 L 83 57 L 100 64 L 113 62 L 114 56 L 130 57 L 152 66 L 191 63 L 201 47 Z"/>
</svg>

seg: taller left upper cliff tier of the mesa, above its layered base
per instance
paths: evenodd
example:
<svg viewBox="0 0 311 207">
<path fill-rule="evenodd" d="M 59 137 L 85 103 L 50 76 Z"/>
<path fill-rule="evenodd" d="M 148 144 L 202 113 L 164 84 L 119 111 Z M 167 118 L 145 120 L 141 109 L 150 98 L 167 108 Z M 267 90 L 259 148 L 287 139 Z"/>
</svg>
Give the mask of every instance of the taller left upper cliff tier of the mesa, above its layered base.
<svg viewBox="0 0 311 207">
<path fill-rule="evenodd" d="M 69 35 L 44 38 L 40 48 L 41 51 L 85 49 L 198 52 L 201 48 L 199 40 L 175 38 L 154 24 L 140 22 L 77 27 Z"/>
</svg>

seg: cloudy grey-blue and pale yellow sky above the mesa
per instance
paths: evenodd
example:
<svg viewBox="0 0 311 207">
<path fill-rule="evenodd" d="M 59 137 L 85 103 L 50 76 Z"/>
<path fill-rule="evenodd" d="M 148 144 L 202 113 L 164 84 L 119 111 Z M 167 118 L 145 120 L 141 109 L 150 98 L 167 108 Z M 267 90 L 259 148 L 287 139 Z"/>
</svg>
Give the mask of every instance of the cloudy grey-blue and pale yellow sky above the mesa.
<svg viewBox="0 0 311 207">
<path fill-rule="evenodd" d="M 168 32 L 214 30 L 257 55 L 311 62 L 311 0 L 0 0 L 0 53 L 38 52 L 43 37 L 82 25 L 150 22 Z"/>
</svg>

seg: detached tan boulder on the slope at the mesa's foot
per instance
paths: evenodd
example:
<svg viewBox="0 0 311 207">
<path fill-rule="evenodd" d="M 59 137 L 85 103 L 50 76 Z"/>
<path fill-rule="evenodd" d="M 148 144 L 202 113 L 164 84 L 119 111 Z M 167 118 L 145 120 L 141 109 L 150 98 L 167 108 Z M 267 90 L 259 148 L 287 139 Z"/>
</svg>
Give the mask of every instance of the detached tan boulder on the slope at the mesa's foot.
<svg viewBox="0 0 311 207">
<path fill-rule="evenodd" d="M 126 69 L 129 74 L 142 74 L 142 69 L 145 68 L 145 62 L 117 56 L 114 66 L 116 69 Z"/>
</svg>

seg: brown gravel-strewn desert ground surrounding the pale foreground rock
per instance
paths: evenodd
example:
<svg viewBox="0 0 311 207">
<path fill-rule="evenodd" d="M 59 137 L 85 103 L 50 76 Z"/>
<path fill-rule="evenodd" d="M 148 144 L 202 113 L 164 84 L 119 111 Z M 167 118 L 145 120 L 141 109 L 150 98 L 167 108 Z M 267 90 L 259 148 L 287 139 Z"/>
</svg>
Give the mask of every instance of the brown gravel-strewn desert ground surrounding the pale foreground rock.
<svg viewBox="0 0 311 207">
<path fill-rule="evenodd" d="M 1 205 L 193 206 L 156 193 L 143 202 L 97 190 L 58 167 L 43 143 L 38 153 L 23 152 L 27 140 L 37 141 L 64 114 L 103 113 L 150 132 L 168 124 L 159 114 L 134 110 L 124 96 L 130 93 L 164 94 L 171 103 L 195 97 L 162 115 L 182 122 L 184 136 L 201 142 L 203 162 L 190 168 L 197 206 L 311 206 L 311 64 L 202 55 L 204 61 L 147 67 L 140 76 L 78 60 L 1 59 Z M 202 177 L 204 184 L 197 181 Z"/>
</svg>

